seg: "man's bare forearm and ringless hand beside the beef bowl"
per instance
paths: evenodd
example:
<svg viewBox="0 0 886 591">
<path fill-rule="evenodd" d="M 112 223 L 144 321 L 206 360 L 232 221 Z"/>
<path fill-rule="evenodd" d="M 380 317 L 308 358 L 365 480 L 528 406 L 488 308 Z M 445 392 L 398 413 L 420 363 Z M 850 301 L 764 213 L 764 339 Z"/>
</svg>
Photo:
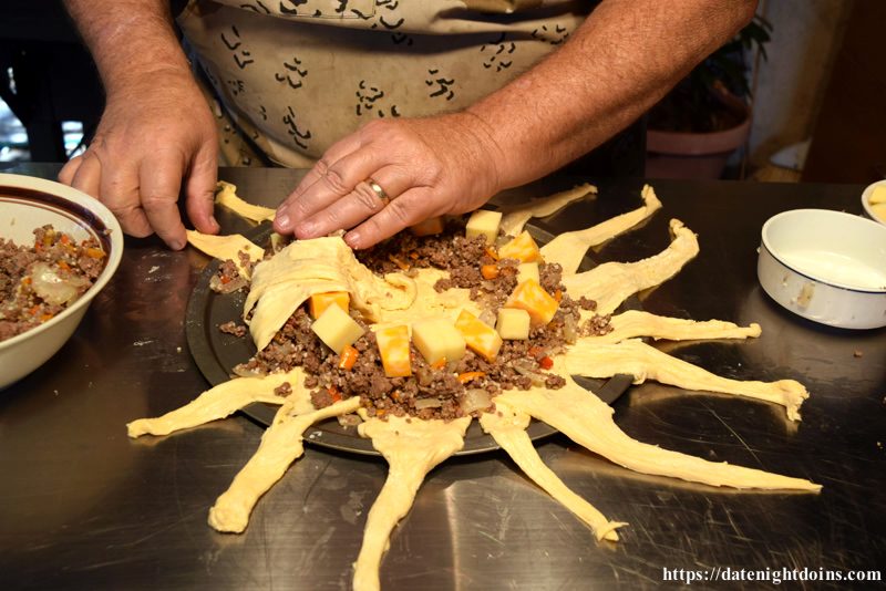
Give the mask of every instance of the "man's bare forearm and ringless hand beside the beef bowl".
<svg viewBox="0 0 886 591">
<path fill-rule="evenodd" d="M 218 139 L 173 29 L 168 0 L 64 0 L 107 96 L 89 149 L 59 179 L 101 199 L 123 230 L 185 247 L 178 196 L 202 232 L 213 219 Z"/>
</svg>

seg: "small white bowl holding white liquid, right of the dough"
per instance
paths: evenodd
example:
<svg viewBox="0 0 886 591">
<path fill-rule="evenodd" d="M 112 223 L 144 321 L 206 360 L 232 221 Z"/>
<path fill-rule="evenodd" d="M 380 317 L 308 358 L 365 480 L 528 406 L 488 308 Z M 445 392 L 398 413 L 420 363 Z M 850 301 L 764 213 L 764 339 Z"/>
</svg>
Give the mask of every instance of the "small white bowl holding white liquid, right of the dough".
<svg viewBox="0 0 886 591">
<path fill-rule="evenodd" d="M 773 300 L 803 318 L 886 326 L 886 226 L 826 209 L 784 211 L 763 225 L 756 274 Z"/>
</svg>

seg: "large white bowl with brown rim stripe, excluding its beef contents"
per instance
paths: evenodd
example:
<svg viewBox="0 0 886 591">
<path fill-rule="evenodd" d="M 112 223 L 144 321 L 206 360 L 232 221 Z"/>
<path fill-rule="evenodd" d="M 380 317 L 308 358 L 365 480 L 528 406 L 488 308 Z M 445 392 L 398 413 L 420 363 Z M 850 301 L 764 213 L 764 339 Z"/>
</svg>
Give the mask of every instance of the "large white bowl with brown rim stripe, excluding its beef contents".
<svg viewBox="0 0 886 591">
<path fill-rule="evenodd" d="M 123 256 L 120 224 L 96 199 L 52 180 L 0 174 L 0 237 L 18 245 L 32 245 L 33 230 L 47 224 L 76 241 L 97 239 L 109 255 L 107 261 L 95 283 L 64 311 L 37 328 L 0 341 L 0 388 L 24 377 L 61 349 Z"/>
</svg>

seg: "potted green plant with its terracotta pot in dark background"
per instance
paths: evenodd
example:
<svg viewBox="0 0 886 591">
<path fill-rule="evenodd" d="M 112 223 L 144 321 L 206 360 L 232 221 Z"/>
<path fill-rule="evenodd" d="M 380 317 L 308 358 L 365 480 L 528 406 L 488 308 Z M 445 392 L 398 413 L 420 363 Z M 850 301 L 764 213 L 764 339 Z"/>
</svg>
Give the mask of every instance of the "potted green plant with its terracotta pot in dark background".
<svg viewBox="0 0 886 591">
<path fill-rule="evenodd" d="M 719 178 L 751 131 L 748 53 L 766 59 L 772 25 L 761 15 L 713 52 L 649 112 L 649 177 Z"/>
</svg>

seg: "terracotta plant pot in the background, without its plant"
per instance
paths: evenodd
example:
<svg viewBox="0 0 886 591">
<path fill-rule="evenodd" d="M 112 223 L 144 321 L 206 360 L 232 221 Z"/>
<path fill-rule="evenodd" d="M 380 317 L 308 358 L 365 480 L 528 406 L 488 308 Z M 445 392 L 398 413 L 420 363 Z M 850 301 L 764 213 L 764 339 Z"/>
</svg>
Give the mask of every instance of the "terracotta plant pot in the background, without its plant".
<svg viewBox="0 0 886 591">
<path fill-rule="evenodd" d="M 751 132 L 750 108 L 738 98 L 730 101 L 729 107 L 743 115 L 741 123 L 729 129 L 711 133 L 647 129 L 646 176 L 720 178 L 727 160 Z"/>
</svg>

